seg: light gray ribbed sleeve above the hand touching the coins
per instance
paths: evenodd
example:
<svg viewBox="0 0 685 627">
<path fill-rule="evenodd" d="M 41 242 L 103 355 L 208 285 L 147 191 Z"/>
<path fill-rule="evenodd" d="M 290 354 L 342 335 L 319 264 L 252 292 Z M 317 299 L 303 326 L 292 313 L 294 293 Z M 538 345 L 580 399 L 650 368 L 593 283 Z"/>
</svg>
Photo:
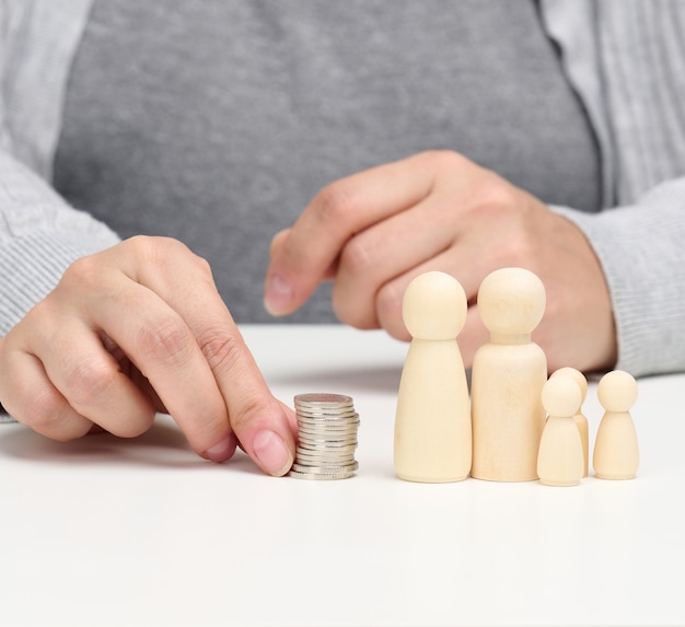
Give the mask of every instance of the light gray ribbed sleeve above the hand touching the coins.
<svg viewBox="0 0 685 627">
<path fill-rule="evenodd" d="M 69 264 L 117 242 L 107 227 L 71 208 L 0 151 L 0 336 L 57 285 Z"/>
</svg>

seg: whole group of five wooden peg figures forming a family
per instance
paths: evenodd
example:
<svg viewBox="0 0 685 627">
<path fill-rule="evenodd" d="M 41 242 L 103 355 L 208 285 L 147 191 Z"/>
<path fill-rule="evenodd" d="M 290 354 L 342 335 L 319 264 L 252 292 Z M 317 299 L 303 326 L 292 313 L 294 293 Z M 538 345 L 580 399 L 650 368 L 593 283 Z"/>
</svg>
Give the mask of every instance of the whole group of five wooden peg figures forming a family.
<svg viewBox="0 0 685 627">
<path fill-rule="evenodd" d="M 395 471 L 410 481 L 539 479 L 573 486 L 588 475 L 588 383 L 572 368 L 547 379 L 547 359 L 531 339 L 545 311 L 539 278 L 522 268 L 488 275 L 478 313 L 489 342 L 474 357 L 471 397 L 456 337 L 466 321 L 466 295 L 444 272 L 414 279 L 403 316 L 413 340 L 402 372 L 395 416 Z M 635 477 L 639 464 L 630 408 L 635 379 L 622 370 L 597 385 L 604 416 L 593 468 L 605 479 Z"/>
</svg>

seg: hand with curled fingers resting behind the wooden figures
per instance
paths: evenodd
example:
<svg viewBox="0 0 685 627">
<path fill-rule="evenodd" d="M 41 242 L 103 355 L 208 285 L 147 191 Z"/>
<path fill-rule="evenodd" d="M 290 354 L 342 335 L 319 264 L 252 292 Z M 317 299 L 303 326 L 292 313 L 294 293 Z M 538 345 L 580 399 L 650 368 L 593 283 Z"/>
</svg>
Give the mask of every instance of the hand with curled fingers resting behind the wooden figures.
<svg viewBox="0 0 685 627">
<path fill-rule="evenodd" d="M 344 323 L 409 339 L 402 299 L 428 270 L 456 277 L 469 309 L 458 342 L 471 367 L 488 334 L 476 298 L 492 270 L 534 271 L 547 292 L 533 337 L 552 370 L 590 371 L 616 360 L 608 288 L 582 232 L 544 202 L 463 155 L 432 151 L 381 165 L 322 189 L 271 242 L 265 305 L 297 310 L 323 280 Z"/>
</svg>

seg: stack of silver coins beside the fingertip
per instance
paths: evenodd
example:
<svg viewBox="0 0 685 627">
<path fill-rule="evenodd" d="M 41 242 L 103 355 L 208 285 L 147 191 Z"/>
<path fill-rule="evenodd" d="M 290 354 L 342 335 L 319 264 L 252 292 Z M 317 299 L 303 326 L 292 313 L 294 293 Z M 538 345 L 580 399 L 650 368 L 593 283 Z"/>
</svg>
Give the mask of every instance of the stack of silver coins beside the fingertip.
<svg viewBox="0 0 685 627">
<path fill-rule="evenodd" d="M 359 414 L 349 396 L 299 394 L 294 398 L 298 448 L 289 475 L 300 479 L 347 479 L 355 461 Z"/>
</svg>

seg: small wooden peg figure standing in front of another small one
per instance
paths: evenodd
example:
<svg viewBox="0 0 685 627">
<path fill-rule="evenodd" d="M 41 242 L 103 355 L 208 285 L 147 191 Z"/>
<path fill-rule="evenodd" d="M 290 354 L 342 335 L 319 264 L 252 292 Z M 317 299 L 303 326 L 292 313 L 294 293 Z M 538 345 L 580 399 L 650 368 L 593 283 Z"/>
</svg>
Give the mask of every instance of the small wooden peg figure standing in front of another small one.
<svg viewBox="0 0 685 627">
<path fill-rule="evenodd" d="M 537 454 L 537 474 L 546 486 L 577 486 L 583 477 L 583 446 L 573 420 L 582 392 L 571 376 L 552 376 L 543 386 L 548 414 Z"/>
</svg>

